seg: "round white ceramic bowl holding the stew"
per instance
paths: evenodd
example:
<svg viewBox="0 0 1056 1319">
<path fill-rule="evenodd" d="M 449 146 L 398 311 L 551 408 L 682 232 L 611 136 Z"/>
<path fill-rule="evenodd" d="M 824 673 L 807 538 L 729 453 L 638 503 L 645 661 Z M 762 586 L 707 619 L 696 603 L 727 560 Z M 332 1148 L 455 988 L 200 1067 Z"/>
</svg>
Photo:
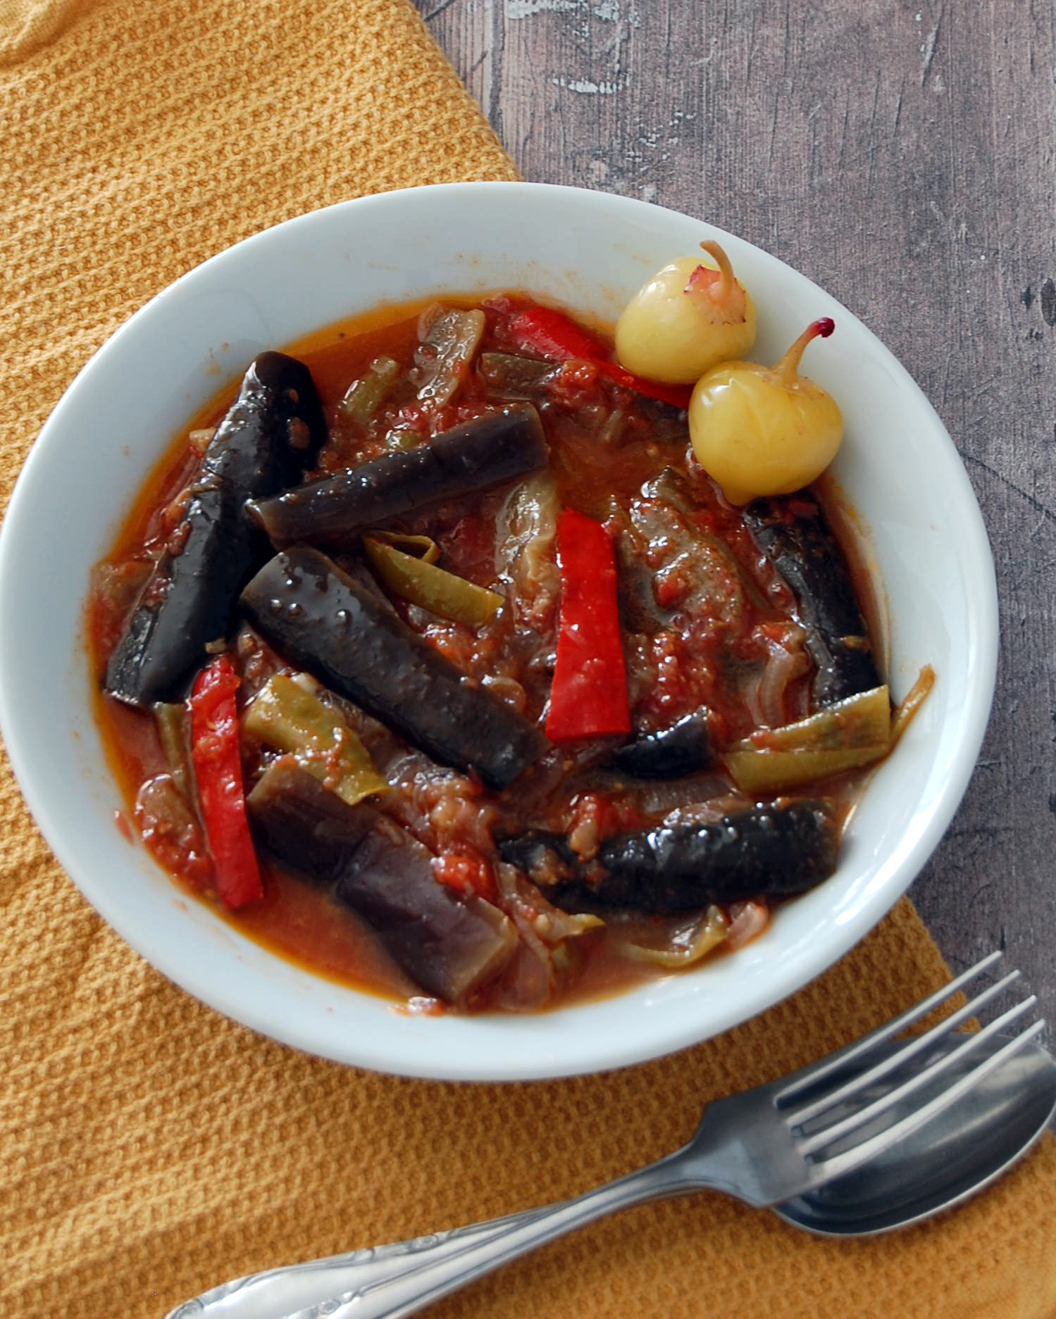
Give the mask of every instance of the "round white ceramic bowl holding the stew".
<svg viewBox="0 0 1056 1319">
<path fill-rule="evenodd" d="M 836 476 L 883 580 L 890 682 L 933 694 L 875 774 L 837 873 L 748 947 L 618 997 L 525 1017 L 401 1016 L 271 955 L 187 901 L 115 827 L 124 806 L 91 714 L 88 570 L 172 437 L 263 348 L 381 302 L 525 289 L 615 319 L 656 268 L 718 237 L 759 307 L 754 356 L 808 321 L 837 332 L 809 373 L 846 419 Z M 777 1002 L 894 905 L 968 785 L 994 689 L 997 591 L 979 510 L 939 417 L 840 303 L 748 243 L 602 193 L 463 183 L 346 202 L 259 233 L 183 276 L 84 367 L 40 434 L 0 534 L 0 727 L 48 842 L 148 962 L 227 1016 L 339 1062 L 512 1080 L 599 1071 L 706 1039 Z"/>
</svg>

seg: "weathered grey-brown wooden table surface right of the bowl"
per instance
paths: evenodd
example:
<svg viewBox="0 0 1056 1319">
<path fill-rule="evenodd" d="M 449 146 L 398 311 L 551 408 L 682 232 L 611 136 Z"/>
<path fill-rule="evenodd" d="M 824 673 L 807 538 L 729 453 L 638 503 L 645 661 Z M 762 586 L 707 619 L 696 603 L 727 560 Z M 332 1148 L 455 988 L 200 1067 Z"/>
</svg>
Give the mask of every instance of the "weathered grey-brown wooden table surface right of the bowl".
<svg viewBox="0 0 1056 1319">
<path fill-rule="evenodd" d="M 1056 1022 L 1052 0 L 416 3 L 525 178 L 759 244 L 939 410 L 1002 642 L 974 778 L 911 896 L 950 966 L 1003 947 Z"/>
</svg>

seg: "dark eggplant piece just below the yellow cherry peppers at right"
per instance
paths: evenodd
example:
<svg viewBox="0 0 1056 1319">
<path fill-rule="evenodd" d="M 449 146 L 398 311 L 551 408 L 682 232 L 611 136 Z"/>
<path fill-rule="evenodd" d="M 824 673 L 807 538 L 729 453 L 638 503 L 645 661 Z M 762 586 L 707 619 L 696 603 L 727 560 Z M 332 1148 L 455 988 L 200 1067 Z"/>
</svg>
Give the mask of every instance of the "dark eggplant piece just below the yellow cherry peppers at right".
<svg viewBox="0 0 1056 1319">
<path fill-rule="evenodd" d="M 817 504 L 804 495 L 795 501 L 803 514 L 788 500 L 755 500 L 744 522 L 796 598 L 805 646 L 817 665 L 814 702 L 832 706 L 879 687 L 880 677 L 840 543 Z"/>
</svg>

